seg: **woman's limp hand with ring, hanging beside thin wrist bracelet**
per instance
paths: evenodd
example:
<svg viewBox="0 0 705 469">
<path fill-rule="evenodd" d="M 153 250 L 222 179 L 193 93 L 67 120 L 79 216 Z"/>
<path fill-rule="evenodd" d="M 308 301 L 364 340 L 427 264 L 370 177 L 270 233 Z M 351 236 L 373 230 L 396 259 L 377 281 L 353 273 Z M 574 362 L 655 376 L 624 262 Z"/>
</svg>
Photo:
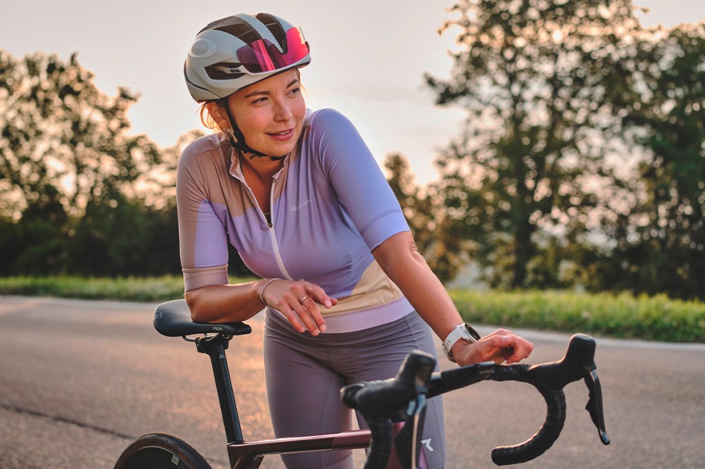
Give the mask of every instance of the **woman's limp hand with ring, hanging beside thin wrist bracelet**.
<svg viewBox="0 0 705 469">
<path fill-rule="evenodd" d="M 262 300 L 266 306 L 282 313 L 298 332 L 308 330 L 316 336 L 326 332 L 319 306 L 332 308 L 338 300 L 331 298 L 318 285 L 304 280 L 262 280 Z M 262 288 L 262 287 L 260 287 Z"/>
</svg>

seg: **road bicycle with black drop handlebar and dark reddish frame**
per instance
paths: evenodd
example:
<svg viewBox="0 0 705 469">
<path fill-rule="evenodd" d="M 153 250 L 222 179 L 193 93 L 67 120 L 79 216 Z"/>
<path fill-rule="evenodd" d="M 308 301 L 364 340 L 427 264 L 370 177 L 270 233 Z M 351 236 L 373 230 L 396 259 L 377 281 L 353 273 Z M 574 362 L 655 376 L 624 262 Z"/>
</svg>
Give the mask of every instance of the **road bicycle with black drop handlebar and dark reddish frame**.
<svg viewBox="0 0 705 469">
<path fill-rule="evenodd" d="M 257 469 L 262 459 L 272 454 L 361 448 L 368 449 L 365 469 L 422 469 L 424 457 L 420 451 L 422 442 L 419 442 L 418 430 L 423 424 L 427 399 L 484 380 L 527 382 L 546 401 L 546 420 L 532 437 L 523 443 L 500 446 L 492 451 L 492 461 L 497 465 L 529 461 L 553 445 L 565 421 L 563 388 L 581 379 L 589 390 L 586 409 L 601 442 L 610 442 L 605 431 L 601 388 L 594 363 L 595 341 L 585 334 L 570 338 L 568 350 L 560 361 L 540 365 L 485 362 L 433 373 L 436 359 L 422 351 L 413 351 L 405 358 L 396 377 L 350 384 L 341 389 L 343 402 L 362 413 L 369 430 L 245 442 L 225 351 L 233 337 L 252 332 L 250 326 L 245 323 L 194 323 L 186 302 L 173 300 L 157 306 L 154 327 L 168 337 L 183 337 L 194 342 L 197 351 L 210 357 L 231 469 Z M 115 468 L 207 469 L 210 465 L 190 444 L 172 434 L 159 432 L 135 439 L 123 451 Z"/>
</svg>

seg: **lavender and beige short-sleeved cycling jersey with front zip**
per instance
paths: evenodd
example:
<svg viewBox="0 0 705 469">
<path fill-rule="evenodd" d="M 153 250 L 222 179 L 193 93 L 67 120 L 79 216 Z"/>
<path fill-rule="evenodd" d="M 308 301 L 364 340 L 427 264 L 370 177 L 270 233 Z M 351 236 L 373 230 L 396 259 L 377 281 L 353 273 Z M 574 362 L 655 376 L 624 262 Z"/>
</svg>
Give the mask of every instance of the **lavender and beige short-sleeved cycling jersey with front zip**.
<svg viewBox="0 0 705 469">
<path fill-rule="evenodd" d="M 234 155 L 234 156 L 233 156 Z M 338 299 L 328 332 L 352 332 L 412 311 L 372 249 L 409 227 L 367 145 L 337 111 L 307 111 L 302 135 L 271 188 L 271 223 L 240 159 L 216 135 L 192 142 L 177 176 L 185 289 L 228 283 L 231 242 L 260 277 L 307 280 Z"/>
</svg>

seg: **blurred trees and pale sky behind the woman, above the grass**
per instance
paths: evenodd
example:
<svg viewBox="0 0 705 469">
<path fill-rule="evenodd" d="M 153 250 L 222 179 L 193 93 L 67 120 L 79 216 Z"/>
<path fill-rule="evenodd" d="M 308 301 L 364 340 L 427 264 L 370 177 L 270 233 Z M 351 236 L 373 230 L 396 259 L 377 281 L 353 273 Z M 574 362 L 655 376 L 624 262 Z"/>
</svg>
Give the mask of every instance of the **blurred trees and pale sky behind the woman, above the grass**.
<svg viewBox="0 0 705 469">
<path fill-rule="evenodd" d="M 185 51 L 266 11 L 302 27 L 308 106 L 353 120 L 448 284 L 705 298 L 703 1 L 237 8 L 4 8 L 0 276 L 180 275 Z"/>
</svg>

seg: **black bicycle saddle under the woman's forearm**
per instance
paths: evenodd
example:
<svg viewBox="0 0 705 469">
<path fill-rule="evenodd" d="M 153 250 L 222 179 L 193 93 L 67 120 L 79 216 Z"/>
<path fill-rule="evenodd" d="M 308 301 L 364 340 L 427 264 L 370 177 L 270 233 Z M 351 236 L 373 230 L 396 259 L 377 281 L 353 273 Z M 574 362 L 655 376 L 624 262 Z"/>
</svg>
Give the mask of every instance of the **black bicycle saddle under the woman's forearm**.
<svg viewBox="0 0 705 469">
<path fill-rule="evenodd" d="M 190 334 L 250 334 L 252 328 L 245 323 L 194 323 L 185 299 L 166 301 L 154 310 L 154 329 L 167 337 Z"/>
</svg>

